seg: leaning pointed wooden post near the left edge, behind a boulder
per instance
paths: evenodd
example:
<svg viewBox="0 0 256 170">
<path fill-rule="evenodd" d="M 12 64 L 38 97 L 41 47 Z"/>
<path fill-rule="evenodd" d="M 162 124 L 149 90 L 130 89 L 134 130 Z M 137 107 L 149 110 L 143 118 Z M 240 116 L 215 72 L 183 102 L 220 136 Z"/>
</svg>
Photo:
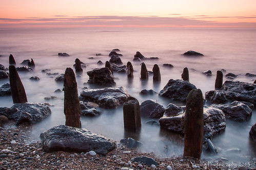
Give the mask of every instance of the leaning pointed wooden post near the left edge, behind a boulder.
<svg viewBox="0 0 256 170">
<path fill-rule="evenodd" d="M 10 86 L 13 103 L 26 103 L 27 95 L 14 65 L 9 66 Z"/>
</svg>

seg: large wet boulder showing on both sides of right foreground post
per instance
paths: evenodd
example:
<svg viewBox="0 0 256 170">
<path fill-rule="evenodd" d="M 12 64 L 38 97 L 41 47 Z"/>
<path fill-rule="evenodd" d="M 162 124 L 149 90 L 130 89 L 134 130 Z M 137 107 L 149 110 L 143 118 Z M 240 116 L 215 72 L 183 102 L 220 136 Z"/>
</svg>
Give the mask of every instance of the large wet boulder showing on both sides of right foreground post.
<svg viewBox="0 0 256 170">
<path fill-rule="evenodd" d="M 169 104 L 164 116 L 159 119 L 161 128 L 184 134 L 185 106 Z M 204 106 L 204 139 L 212 138 L 226 128 L 226 118 L 222 110 Z"/>
</svg>

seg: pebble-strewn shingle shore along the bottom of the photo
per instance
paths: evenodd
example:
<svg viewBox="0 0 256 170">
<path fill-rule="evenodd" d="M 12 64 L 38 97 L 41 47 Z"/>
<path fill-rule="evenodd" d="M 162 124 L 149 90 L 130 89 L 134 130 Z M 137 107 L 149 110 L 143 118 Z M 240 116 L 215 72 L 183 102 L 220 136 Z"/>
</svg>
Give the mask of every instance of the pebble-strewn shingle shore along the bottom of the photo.
<svg viewBox="0 0 256 170">
<path fill-rule="evenodd" d="M 154 153 L 143 153 L 119 145 L 106 156 L 89 153 L 46 153 L 41 141 L 30 138 L 29 127 L 8 126 L 0 130 L 1 169 L 255 169 L 250 164 L 241 166 L 224 162 L 201 161 L 191 157 L 161 158 Z M 153 158 L 158 165 L 131 162 L 134 157 Z"/>
</svg>

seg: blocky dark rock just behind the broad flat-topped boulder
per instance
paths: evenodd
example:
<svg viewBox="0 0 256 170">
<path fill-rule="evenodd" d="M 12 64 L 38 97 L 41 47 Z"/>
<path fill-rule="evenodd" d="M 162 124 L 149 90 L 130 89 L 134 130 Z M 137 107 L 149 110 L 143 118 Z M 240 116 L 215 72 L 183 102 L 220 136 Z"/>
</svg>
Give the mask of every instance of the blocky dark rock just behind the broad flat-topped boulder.
<svg viewBox="0 0 256 170">
<path fill-rule="evenodd" d="M 87 71 L 87 75 L 89 76 L 88 83 L 90 84 L 115 85 L 114 77 L 107 67 Z"/>
</svg>

